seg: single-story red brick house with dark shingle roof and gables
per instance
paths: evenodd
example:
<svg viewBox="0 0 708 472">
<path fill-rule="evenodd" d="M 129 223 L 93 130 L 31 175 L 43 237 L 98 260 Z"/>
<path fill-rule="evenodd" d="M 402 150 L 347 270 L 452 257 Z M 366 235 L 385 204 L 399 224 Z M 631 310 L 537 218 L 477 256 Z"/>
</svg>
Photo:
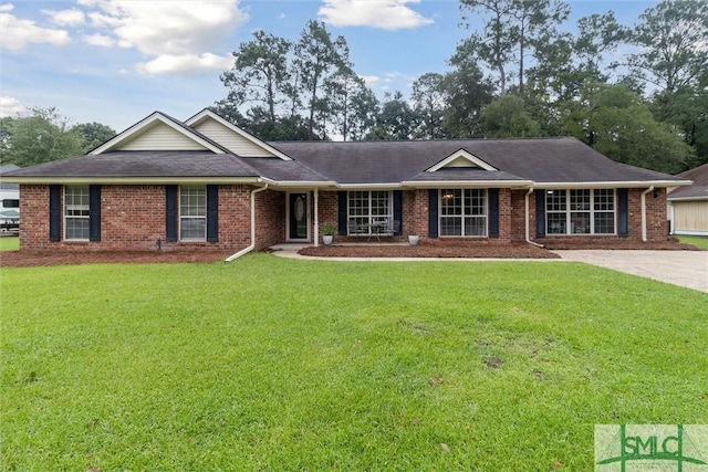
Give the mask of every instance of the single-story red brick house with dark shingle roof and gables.
<svg viewBox="0 0 708 472">
<path fill-rule="evenodd" d="M 407 235 L 479 244 L 665 240 L 680 177 L 573 138 L 266 143 L 209 109 L 155 112 L 85 156 L 3 176 L 20 248 L 205 248 Z"/>
</svg>

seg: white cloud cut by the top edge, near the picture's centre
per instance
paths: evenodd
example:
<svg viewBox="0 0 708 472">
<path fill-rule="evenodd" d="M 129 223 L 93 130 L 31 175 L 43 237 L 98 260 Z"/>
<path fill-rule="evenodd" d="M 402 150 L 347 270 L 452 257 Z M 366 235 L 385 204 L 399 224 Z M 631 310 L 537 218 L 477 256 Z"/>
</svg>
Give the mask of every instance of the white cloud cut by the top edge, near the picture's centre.
<svg viewBox="0 0 708 472">
<path fill-rule="evenodd" d="M 433 23 L 407 7 L 420 0 L 323 0 L 317 14 L 335 27 L 371 27 L 403 30 Z"/>
</svg>

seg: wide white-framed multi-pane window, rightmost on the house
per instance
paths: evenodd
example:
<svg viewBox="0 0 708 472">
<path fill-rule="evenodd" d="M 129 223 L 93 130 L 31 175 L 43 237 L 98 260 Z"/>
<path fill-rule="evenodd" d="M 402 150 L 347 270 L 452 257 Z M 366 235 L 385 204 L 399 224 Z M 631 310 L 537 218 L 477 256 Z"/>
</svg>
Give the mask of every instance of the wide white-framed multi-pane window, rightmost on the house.
<svg viewBox="0 0 708 472">
<path fill-rule="evenodd" d="M 614 189 L 548 190 L 546 234 L 614 234 Z"/>
</svg>

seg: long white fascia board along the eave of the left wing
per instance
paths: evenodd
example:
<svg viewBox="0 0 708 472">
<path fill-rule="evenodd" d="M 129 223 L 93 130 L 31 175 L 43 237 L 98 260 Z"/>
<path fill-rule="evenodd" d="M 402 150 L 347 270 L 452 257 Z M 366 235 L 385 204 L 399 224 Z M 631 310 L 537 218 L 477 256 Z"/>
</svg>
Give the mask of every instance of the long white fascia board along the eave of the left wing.
<svg viewBox="0 0 708 472">
<path fill-rule="evenodd" d="M 258 183 L 259 177 L 17 177 L 17 183 L 33 185 L 165 185 L 165 183 Z"/>
</svg>

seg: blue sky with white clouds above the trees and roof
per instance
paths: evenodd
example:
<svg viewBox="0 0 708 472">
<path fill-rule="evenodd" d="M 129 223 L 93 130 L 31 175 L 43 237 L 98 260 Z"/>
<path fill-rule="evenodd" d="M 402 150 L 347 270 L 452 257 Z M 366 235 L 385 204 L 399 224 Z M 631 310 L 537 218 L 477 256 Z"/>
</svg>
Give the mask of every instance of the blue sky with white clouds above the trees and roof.
<svg viewBox="0 0 708 472">
<path fill-rule="evenodd" d="M 634 25 L 653 0 L 568 0 L 579 18 Z M 444 72 L 468 30 L 454 0 L 0 0 L 0 116 L 56 107 L 121 132 L 154 111 L 186 119 L 226 96 L 219 80 L 252 32 L 296 41 L 308 20 L 343 35 L 383 96 Z"/>
</svg>

